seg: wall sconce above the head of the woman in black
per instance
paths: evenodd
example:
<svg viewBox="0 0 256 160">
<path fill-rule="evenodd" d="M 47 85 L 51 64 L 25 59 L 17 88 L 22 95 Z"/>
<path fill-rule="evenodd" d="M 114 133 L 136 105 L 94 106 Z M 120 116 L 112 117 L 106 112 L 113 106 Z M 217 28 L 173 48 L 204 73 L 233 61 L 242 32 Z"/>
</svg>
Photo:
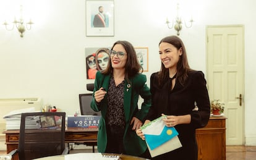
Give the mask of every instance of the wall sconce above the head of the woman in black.
<svg viewBox="0 0 256 160">
<path fill-rule="evenodd" d="M 174 20 L 175 20 L 175 25 L 174 25 Z M 184 21 L 184 24 L 185 24 L 186 28 L 191 28 L 192 25 L 193 25 L 193 22 L 194 22 L 194 20 L 191 17 L 191 19 L 189 20 L 190 25 L 188 26 L 186 24 L 186 21 Z M 173 25 L 174 25 L 174 29 L 177 31 L 177 35 L 179 36 L 179 31 L 182 29 L 182 19 L 179 16 L 179 4 L 177 4 L 177 16 L 176 16 L 176 19 L 173 19 L 173 24 L 172 24 L 171 27 L 169 27 L 169 23 L 170 23 L 169 20 L 166 18 L 166 24 L 167 24 L 168 28 L 169 29 L 173 29 Z"/>
</svg>

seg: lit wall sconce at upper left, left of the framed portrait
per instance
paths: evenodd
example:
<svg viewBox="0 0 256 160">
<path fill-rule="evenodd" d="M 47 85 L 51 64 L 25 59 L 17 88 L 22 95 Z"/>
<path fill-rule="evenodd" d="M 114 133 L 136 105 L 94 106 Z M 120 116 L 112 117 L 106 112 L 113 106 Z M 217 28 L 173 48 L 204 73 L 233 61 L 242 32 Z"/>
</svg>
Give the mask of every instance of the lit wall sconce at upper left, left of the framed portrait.
<svg viewBox="0 0 256 160">
<path fill-rule="evenodd" d="M 20 20 L 16 20 L 16 18 L 14 18 L 14 22 L 12 22 L 12 28 L 8 28 L 7 25 L 9 25 L 9 23 L 6 22 L 6 20 L 4 21 L 4 23 L 2 25 L 6 26 L 6 30 L 13 30 L 14 26 L 17 28 L 17 30 L 20 32 L 20 37 L 23 37 L 23 32 L 25 32 L 26 28 L 27 30 L 31 30 L 32 27 L 32 20 L 30 19 L 29 22 L 27 22 L 25 25 L 23 25 L 24 21 L 23 21 L 23 17 L 22 17 L 22 5 L 20 5 Z"/>
</svg>

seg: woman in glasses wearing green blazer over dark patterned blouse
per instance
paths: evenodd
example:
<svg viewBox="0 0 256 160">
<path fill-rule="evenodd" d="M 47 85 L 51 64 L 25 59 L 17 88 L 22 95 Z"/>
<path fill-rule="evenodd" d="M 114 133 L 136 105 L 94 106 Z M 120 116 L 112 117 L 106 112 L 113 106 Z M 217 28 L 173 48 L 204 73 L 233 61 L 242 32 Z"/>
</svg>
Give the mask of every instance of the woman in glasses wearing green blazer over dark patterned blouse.
<svg viewBox="0 0 256 160">
<path fill-rule="evenodd" d="M 114 43 L 109 54 L 108 67 L 96 73 L 91 103 L 94 111 L 101 111 L 98 151 L 145 157 L 147 145 L 135 130 L 151 106 L 147 77 L 140 74 L 143 69 L 128 41 Z M 140 109 L 139 95 L 144 100 Z"/>
</svg>

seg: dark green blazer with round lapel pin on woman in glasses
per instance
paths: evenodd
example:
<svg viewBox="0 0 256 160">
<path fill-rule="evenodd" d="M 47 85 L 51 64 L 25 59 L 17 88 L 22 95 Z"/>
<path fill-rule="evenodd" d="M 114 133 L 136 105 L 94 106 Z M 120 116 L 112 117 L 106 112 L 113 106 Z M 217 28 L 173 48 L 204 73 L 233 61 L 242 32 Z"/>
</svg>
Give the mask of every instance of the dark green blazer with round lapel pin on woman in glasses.
<svg viewBox="0 0 256 160">
<path fill-rule="evenodd" d="M 110 75 L 103 75 L 101 72 L 96 73 L 93 99 L 91 102 L 91 107 L 94 111 L 101 111 L 101 119 L 98 130 L 98 152 L 105 153 L 107 145 L 107 132 L 106 132 L 106 112 L 108 108 L 108 96 L 102 99 L 100 104 L 96 104 L 94 93 L 101 87 L 105 88 L 108 92 Z M 129 79 L 130 82 L 125 80 L 124 86 L 124 115 L 126 119 L 126 128 L 124 132 L 124 149 L 126 154 L 140 156 L 147 149 L 147 144 L 136 132 L 132 130 L 133 125 L 130 125 L 130 120 L 132 117 L 137 117 L 138 119 L 144 121 L 145 116 L 147 116 L 148 110 L 151 106 L 151 93 L 148 86 L 145 84 L 147 82 L 147 77 L 143 74 L 137 74 Z M 139 95 L 144 99 L 141 109 L 138 109 L 138 99 Z"/>
</svg>

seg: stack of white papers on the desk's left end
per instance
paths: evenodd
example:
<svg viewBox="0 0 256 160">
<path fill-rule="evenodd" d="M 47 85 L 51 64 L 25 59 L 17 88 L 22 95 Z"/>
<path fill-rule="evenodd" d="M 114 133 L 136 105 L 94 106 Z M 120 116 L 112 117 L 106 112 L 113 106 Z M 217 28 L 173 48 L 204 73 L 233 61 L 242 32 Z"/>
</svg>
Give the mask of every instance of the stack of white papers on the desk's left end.
<svg viewBox="0 0 256 160">
<path fill-rule="evenodd" d="M 20 119 L 23 112 L 35 112 L 35 107 L 30 107 L 26 109 L 19 109 L 9 112 L 3 118 L 6 120 L 6 130 L 19 130 L 20 129 Z M 25 120 L 26 128 L 38 128 L 40 127 L 39 117 L 30 117 Z"/>
</svg>

